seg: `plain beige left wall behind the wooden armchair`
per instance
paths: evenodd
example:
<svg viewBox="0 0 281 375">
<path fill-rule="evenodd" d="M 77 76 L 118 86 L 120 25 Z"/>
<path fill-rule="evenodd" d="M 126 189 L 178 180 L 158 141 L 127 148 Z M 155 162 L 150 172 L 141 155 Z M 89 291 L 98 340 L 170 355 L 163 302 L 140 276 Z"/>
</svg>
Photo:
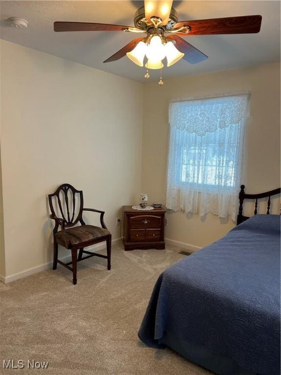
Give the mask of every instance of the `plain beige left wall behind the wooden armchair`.
<svg viewBox="0 0 281 375">
<path fill-rule="evenodd" d="M 47 194 L 62 183 L 120 237 L 120 207 L 140 193 L 141 127 L 141 83 L 1 41 L 7 277 L 51 261 Z"/>
</svg>

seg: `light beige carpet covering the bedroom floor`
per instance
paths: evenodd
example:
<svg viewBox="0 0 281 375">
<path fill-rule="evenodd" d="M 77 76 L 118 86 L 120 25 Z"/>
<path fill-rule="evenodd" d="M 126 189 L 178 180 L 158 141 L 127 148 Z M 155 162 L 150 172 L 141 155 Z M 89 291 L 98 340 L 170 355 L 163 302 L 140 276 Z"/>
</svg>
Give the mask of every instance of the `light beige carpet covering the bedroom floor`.
<svg viewBox="0 0 281 375">
<path fill-rule="evenodd" d="M 137 336 L 154 284 L 180 249 L 124 251 L 78 264 L 78 283 L 62 266 L 1 284 L 1 374 L 208 375 L 172 350 Z M 47 370 L 3 370 L 3 359 L 48 361 Z"/>
</svg>

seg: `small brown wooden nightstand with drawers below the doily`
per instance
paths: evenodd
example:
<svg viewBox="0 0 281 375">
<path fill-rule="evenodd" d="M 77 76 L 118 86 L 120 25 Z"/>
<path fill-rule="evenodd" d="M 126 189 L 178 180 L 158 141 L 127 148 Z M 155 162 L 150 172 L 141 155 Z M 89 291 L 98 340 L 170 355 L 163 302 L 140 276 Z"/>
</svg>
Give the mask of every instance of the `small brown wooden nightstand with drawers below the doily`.
<svg viewBox="0 0 281 375">
<path fill-rule="evenodd" d="M 165 212 L 164 206 L 145 211 L 123 206 L 125 250 L 165 249 Z"/>
</svg>

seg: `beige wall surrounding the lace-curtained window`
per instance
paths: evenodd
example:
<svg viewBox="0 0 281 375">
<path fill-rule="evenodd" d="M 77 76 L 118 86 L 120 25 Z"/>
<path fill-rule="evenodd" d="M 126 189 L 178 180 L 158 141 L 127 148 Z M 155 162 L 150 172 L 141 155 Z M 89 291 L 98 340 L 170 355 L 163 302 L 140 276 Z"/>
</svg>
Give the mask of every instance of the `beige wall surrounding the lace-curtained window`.
<svg viewBox="0 0 281 375">
<path fill-rule="evenodd" d="M 261 192 L 280 186 L 280 64 L 186 76 L 145 85 L 142 133 L 142 186 L 149 201 L 165 202 L 168 145 L 168 107 L 173 98 L 251 92 L 251 119 L 247 124 L 246 173 L 248 192 Z M 279 212 L 276 204 L 274 211 Z M 209 213 L 199 215 L 174 212 L 167 215 L 165 236 L 203 247 L 233 228 Z"/>
</svg>

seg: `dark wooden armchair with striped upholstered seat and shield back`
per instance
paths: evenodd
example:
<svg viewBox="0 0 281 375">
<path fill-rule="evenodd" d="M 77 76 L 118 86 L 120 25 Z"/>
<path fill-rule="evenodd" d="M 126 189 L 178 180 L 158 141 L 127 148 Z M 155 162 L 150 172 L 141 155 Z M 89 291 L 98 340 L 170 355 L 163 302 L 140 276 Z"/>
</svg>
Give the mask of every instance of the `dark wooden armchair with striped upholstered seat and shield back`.
<svg viewBox="0 0 281 375">
<path fill-rule="evenodd" d="M 80 198 L 80 207 L 76 210 L 76 196 Z M 52 214 L 50 218 L 55 220 L 54 234 L 54 262 L 53 270 L 57 269 L 58 262 L 66 267 L 68 270 L 73 272 L 73 284 L 77 283 L 77 262 L 80 260 L 90 258 L 92 256 L 100 256 L 101 258 L 107 259 L 107 269 L 110 270 L 110 258 L 111 258 L 111 234 L 106 228 L 103 216 L 104 211 L 93 208 L 83 208 L 83 192 L 76 190 L 75 187 L 69 184 L 60 185 L 53 194 L 49 194 L 49 205 Z M 57 217 L 54 200 L 56 201 L 57 211 L 60 211 L 61 218 Z M 100 213 L 100 225 L 101 227 L 95 227 L 92 225 L 86 225 L 82 218 L 83 211 L 91 211 Z M 80 222 L 80 226 L 76 224 Z M 59 226 L 61 230 L 58 231 Z M 75 227 L 76 226 L 76 227 Z M 101 255 L 95 252 L 84 250 L 85 247 L 91 246 L 100 242 L 106 241 L 107 255 Z M 71 250 L 72 262 L 63 263 L 58 260 L 58 245 L 63 246 L 66 249 Z M 79 255 L 77 258 L 77 250 Z M 83 253 L 88 254 L 83 257 Z M 69 266 L 72 265 L 72 268 Z"/>
</svg>

